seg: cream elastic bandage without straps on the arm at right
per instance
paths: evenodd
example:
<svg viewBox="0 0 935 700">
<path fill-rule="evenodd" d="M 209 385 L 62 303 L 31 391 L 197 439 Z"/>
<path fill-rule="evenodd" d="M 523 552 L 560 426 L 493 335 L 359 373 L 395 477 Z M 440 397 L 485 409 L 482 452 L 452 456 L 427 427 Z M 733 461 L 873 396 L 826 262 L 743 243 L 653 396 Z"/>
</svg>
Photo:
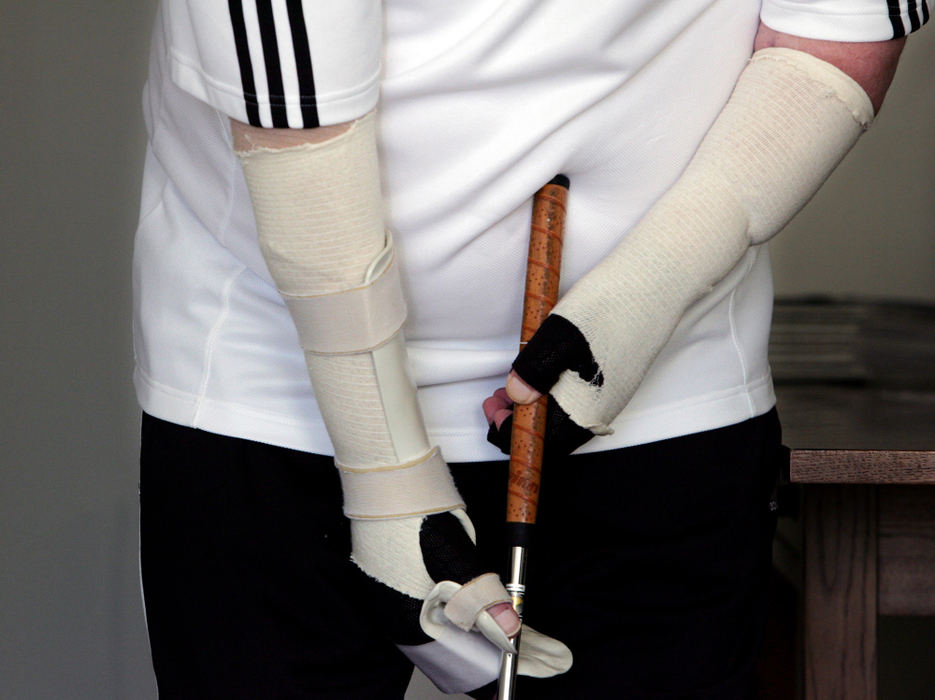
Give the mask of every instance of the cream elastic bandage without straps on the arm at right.
<svg viewBox="0 0 935 700">
<path fill-rule="evenodd" d="M 578 425 L 611 432 L 685 310 L 788 223 L 872 118 L 863 89 L 831 64 L 754 54 L 684 173 L 553 311 L 601 368 L 601 385 L 565 371 L 551 390 Z"/>
</svg>

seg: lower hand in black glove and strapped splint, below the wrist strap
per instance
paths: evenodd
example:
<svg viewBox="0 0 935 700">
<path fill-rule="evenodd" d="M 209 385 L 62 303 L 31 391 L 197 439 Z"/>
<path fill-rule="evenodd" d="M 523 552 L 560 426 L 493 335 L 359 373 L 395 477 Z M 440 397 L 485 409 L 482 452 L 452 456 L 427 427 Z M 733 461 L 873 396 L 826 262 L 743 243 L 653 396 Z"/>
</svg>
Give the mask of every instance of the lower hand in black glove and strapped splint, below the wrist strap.
<svg viewBox="0 0 935 700">
<path fill-rule="evenodd" d="M 353 520 L 352 558 L 367 574 L 366 605 L 400 650 L 444 692 L 496 679 L 519 618 L 496 574 L 477 560 L 461 508 L 395 520 Z M 493 642 L 493 644 L 488 643 Z M 518 670 L 537 677 L 571 666 L 568 648 L 528 628 Z"/>
</svg>

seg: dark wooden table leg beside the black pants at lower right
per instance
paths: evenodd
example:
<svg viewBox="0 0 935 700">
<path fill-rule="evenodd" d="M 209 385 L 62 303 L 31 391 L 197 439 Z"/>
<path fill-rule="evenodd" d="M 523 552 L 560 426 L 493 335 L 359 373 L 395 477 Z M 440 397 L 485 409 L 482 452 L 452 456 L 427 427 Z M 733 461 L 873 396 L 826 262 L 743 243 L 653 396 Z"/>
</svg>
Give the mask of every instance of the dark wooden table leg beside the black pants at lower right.
<svg viewBox="0 0 935 700">
<path fill-rule="evenodd" d="M 876 700 L 877 492 L 804 489 L 805 698 Z"/>
</svg>

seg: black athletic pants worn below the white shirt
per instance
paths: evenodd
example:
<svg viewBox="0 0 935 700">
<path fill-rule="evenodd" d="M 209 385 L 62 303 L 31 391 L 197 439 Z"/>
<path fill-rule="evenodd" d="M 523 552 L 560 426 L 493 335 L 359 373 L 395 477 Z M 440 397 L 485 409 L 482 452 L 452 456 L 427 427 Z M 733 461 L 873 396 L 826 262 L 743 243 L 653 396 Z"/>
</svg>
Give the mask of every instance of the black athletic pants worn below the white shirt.
<svg viewBox="0 0 935 700">
<path fill-rule="evenodd" d="M 779 468 L 775 412 L 548 465 L 526 621 L 568 644 L 527 700 L 751 695 Z M 504 462 L 452 471 L 491 568 Z M 141 557 L 162 700 L 399 700 L 411 665 L 360 606 L 330 457 L 144 416 Z"/>
</svg>

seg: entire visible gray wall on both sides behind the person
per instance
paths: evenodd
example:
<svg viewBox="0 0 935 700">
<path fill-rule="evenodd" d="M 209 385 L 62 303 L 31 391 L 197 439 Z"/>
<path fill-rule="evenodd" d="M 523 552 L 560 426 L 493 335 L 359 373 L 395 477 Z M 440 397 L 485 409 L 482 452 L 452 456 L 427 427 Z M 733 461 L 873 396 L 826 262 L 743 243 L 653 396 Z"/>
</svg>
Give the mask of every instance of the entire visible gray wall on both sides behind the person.
<svg viewBox="0 0 935 700">
<path fill-rule="evenodd" d="M 3 0 L 4 699 L 155 697 L 128 297 L 153 7 Z M 877 127 L 777 246 L 781 292 L 935 301 L 933 59 L 928 30 Z"/>
</svg>

